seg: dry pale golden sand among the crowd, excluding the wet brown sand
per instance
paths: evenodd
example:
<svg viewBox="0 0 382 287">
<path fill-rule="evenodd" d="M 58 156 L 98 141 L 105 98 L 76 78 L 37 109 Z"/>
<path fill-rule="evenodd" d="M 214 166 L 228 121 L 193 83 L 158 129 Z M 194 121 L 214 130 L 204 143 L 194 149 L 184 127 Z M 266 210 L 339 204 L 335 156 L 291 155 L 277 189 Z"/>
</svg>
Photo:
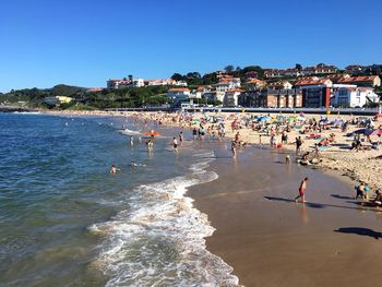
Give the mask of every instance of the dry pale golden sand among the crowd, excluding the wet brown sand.
<svg viewBox="0 0 382 287">
<path fill-rule="evenodd" d="M 52 111 L 51 113 L 57 115 L 68 115 L 68 116 L 107 116 L 107 117 L 134 117 L 143 119 L 146 121 L 160 121 L 163 124 L 171 127 L 183 127 L 186 130 L 190 130 L 193 127 L 199 128 L 199 120 L 205 116 L 219 117 L 225 123 L 226 137 L 234 139 L 236 133 L 240 133 L 240 141 L 250 144 L 261 143 L 264 146 L 270 146 L 270 134 L 263 131 L 253 131 L 251 127 L 246 127 L 244 119 L 250 118 L 251 113 L 238 112 L 238 113 L 223 113 L 223 112 L 208 112 L 208 113 L 192 113 L 184 117 L 180 113 L 165 113 L 165 112 L 132 112 L 132 111 Z M 259 116 L 259 115 L 258 115 Z M 265 116 L 265 115 L 262 115 Z M 270 117 L 277 118 L 278 113 L 268 115 Z M 298 117 L 296 113 L 284 113 L 284 117 Z M 320 120 L 326 119 L 327 123 L 335 121 L 351 121 L 357 117 L 344 116 L 344 115 L 307 115 L 305 116 L 305 121 L 300 123 L 301 127 L 307 127 L 307 122 L 311 119 Z M 372 119 L 372 117 L 366 117 Z M 196 121 L 195 121 L 196 120 Z M 231 123 L 236 121 L 240 127 L 237 130 L 231 130 Z M 379 128 L 382 124 L 382 118 L 380 121 L 374 121 L 374 128 Z M 217 130 L 217 123 L 205 122 L 203 123 L 204 129 L 208 129 L 215 125 L 215 131 Z M 274 123 L 268 123 L 270 127 L 275 127 Z M 283 127 L 283 125 L 282 125 Z M 285 125 L 284 125 L 285 127 Z M 333 143 L 330 143 L 325 150 L 320 151 L 320 160 L 317 164 L 323 170 L 333 169 L 337 170 L 341 175 L 345 175 L 354 180 L 365 181 L 369 183 L 373 189 L 382 190 L 382 181 L 379 180 L 379 176 L 382 172 L 381 159 L 378 157 L 382 156 L 382 148 L 369 151 L 355 152 L 350 151 L 351 136 L 346 136 L 351 134 L 356 130 L 360 130 L 361 127 L 357 124 L 349 124 L 345 132 L 342 132 L 339 125 L 327 124 L 327 130 L 322 130 L 321 132 L 310 131 L 306 134 L 300 134 L 301 129 L 291 128 L 288 134 L 288 144 L 283 145 L 279 151 L 295 151 L 295 139 L 301 136 L 303 143 L 301 146 L 301 152 L 312 151 L 314 148 L 314 143 L 319 143 L 320 139 L 330 137 L 330 134 L 334 134 L 335 139 Z M 320 135 L 315 139 L 310 137 L 311 134 Z M 260 139 L 261 137 L 261 139 Z M 276 134 L 276 140 L 279 143 L 280 134 Z M 370 147 L 370 143 L 366 142 L 366 137 L 361 136 L 365 146 Z M 379 136 L 371 135 L 371 141 L 381 141 Z"/>
</svg>

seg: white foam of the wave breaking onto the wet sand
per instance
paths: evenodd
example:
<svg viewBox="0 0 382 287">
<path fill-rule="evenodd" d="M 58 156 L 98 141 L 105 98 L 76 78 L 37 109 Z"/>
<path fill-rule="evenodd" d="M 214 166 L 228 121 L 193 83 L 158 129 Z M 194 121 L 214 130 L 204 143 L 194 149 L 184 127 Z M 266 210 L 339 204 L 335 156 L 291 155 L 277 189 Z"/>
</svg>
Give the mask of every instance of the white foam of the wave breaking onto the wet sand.
<svg viewBox="0 0 382 287">
<path fill-rule="evenodd" d="M 190 175 L 140 186 L 131 208 L 89 227 L 108 238 L 95 262 L 107 286 L 238 286 L 232 267 L 206 250 L 204 238 L 215 229 L 186 196 L 189 187 L 218 177 L 205 170 L 211 160 L 192 165 Z"/>
</svg>

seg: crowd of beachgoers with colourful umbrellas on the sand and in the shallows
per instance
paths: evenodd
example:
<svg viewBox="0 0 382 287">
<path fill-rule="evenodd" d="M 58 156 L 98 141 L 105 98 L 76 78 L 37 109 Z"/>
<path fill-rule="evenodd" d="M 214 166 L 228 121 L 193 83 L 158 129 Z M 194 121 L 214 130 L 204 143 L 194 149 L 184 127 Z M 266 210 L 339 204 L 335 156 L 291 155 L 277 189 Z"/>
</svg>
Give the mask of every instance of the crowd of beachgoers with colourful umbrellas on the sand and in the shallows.
<svg viewBox="0 0 382 287">
<path fill-rule="evenodd" d="M 228 134 L 230 139 L 230 152 L 232 158 L 237 158 L 237 150 L 244 147 L 250 143 L 258 145 L 268 145 L 271 148 L 291 150 L 295 146 L 296 162 L 301 165 L 317 165 L 321 162 L 322 152 L 327 151 L 337 144 L 337 136 L 351 135 L 349 151 L 369 151 L 378 150 L 381 144 L 381 133 L 378 132 L 371 136 L 371 132 L 355 132 L 355 129 L 366 129 L 369 131 L 382 130 L 382 125 L 375 124 L 375 121 L 366 117 L 353 117 L 347 119 L 335 118 L 330 120 L 326 116 L 306 117 L 305 115 L 295 116 L 258 116 L 258 115 L 206 115 L 188 112 L 153 112 L 135 115 L 135 121 L 142 119 L 147 124 L 152 122 L 160 128 L 162 124 L 178 127 L 181 129 L 178 136 L 172 137 L 172 150 L 179 152 L 179 146 L 184 141 L 183 131 L 190 130 L 193 140 L 224 140 Z M 226 125 L 230 129 L 226 130 Z M 353 131 L 348 133 L 349 131 Z M 244 136 L 242 136 L 244 133 Z M 248 134 L 252 133 L 252 140 Z M 253 141 L 253 134 L 258 135 L 258 142 Z M 290 141 L 291 135 L 295 140 Z M 154 137 L 154 134 L 152 135 Z M 262 139 L 268 139 L 268 143 Z M 132 140 L 131 140 L 132 141 Z M 133 142 L 131 142 L 133 144 Z M 148 151 L 153 151 L 153 139 L 146 140 Z M 344 145 L 344 143 L 342 143 Z M 345 146 L 346 147 L 346 146 Z M 344 148 L 345 148 L 344 147 Z M 286 163 L 291 163 L 290 155 L 286 155 Z M 115 174 L 118 169 L 111 168 Z M 305 179 L 299 190 L 299 198 L 305 201 L 305 191 L 308 179 Z M 375 189 L 375 198 L 370 196 L 370 187 L 366 182 L 360 182 L 356 188 L 356 199 L 365 202 L 371 202 L 378 206 L 381 205 L 381 191 Z M 372 199 L 372 200 L 371 200 Z"/>
</svg>

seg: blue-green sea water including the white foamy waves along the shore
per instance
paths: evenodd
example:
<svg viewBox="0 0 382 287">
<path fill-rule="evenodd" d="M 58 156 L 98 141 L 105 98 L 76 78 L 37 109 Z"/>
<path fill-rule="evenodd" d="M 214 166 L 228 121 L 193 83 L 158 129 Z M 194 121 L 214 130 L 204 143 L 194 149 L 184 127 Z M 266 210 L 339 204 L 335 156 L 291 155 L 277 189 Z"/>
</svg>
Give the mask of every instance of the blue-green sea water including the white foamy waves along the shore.
<svg viewBox="0 0 382 287">
<path fill-rule="evenodd" d="M 186 141 L 177 154 L 162 129 L 148 153 L 151 129 L 0 113 L 0 286 L 238 284 L 206 250 L 214 228 L 186 194 L 218 177 L 213 152 Z"/>
</svg>

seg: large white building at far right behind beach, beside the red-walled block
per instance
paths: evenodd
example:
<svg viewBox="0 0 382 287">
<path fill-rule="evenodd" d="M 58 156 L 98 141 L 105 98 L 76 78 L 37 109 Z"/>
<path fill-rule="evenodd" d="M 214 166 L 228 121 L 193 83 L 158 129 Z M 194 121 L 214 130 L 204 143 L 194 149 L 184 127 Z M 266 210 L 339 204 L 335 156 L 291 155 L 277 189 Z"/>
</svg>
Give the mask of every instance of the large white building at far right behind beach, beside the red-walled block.
<svg viewBox="0 0 382 287">
<path fill-rule="evenodd" d="M 372 87 L 343 86 L 336 89 L 332 106 L 359 108 L 367 104 L 378 104 L 379 96 Z"/>
</svg>

